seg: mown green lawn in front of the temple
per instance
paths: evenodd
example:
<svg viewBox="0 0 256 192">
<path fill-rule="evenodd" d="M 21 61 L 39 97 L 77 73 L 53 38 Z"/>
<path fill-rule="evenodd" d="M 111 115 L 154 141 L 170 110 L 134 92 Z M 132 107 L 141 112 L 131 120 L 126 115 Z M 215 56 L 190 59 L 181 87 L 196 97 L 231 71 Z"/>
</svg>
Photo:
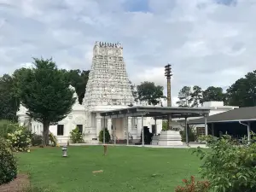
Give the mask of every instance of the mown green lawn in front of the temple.
<svg viewBox="0 0 256 192">
<path fill-rule="evenodd" d="M 20 172 L 33 185 L 58 192 L 174 191 L 182 179 L 199 177 L 200 160 L 187 148 L 69 147 L 35 148 L 18 154 Z M 103 170 L 103 172 L 92 173 Z"/>
</svg>

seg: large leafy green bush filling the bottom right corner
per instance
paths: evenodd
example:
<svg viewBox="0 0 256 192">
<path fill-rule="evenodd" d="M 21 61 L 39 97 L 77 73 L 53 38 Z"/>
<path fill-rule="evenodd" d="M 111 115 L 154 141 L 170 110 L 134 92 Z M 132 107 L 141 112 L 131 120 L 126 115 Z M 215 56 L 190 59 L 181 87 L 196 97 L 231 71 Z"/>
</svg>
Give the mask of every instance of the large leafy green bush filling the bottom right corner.
<svg viewBox="0 0 256 192">
<path fill-rule="evenodd" d="M 228 135 L 201 137 L 201 140 L 207 141 L 210 149 L 197 148 L 195 152 L 203 160 L 202 177 L 209 180 L 214 191 L 256 191 L 256 143 L 237 145 Z"/>
</svg>

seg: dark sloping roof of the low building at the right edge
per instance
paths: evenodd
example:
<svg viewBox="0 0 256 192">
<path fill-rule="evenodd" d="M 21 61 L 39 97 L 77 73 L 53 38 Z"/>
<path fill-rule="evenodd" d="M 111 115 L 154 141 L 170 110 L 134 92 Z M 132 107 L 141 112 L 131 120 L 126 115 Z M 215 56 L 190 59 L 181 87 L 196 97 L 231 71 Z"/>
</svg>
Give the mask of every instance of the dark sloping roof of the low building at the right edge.
<svg viewBox="0 0 256 192">
<path fill-rule="evenodd" d="M 213 114 L 207 117 L 207 123 L 220 123 L 230 121 L 252 121 L 256 120 L 256 107 L 236 108 L 224 113 Z M 188 124 L 204 124 L 205 119 L 191 119 Z"/>
</svg>

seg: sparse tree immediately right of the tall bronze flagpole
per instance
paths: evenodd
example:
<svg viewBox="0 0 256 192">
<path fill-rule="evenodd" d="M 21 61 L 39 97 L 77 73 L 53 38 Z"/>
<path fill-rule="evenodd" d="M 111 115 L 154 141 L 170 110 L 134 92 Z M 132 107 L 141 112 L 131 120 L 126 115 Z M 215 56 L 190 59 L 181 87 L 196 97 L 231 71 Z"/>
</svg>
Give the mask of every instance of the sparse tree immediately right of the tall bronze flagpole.
<svg viewBox="0 0 256 192">
<path fill-rule="evenodd" d="M 176 103 L 178 104 L 178 107 L 185 107 L 189 108 L 191 104 L 191 88 L 189 86 L 183 86 L 183 89 L 181 89 L 178 92 L 178 100 Z"/>
</svg>

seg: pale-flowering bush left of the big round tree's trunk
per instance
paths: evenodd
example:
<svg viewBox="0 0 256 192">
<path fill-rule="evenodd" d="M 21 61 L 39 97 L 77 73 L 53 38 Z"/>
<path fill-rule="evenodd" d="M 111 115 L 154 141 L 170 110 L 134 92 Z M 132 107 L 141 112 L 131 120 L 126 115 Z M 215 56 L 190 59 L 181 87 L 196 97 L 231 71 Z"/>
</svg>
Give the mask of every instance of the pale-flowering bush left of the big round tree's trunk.
<svg viewBox="0 0 256 192">
<path fill-rule="evenodd" d="M 31 132 L 23 126 L 16 126 L 13 133 L 8 133 L 7 142 L 15 151 L 26 151 L 31 145 Z"/>
</svg>

